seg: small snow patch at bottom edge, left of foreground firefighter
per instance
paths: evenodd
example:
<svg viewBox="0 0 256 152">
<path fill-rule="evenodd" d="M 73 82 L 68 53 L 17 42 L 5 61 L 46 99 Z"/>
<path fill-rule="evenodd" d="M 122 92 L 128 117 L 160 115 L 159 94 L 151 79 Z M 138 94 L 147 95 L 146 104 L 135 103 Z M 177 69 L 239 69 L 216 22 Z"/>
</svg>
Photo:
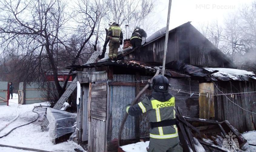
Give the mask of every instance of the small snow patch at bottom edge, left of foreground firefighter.
<svg viewBox="0 0 256 152">
<path fill-rule="evenodd" d="M 146 142 L 137 142 L 136 144 L 128 144 L 125 146 L 121 146 L 122 150 L 125 152 L 147 152 L 147 147 L 149 145 L 149 141 Z"/>
</svg>

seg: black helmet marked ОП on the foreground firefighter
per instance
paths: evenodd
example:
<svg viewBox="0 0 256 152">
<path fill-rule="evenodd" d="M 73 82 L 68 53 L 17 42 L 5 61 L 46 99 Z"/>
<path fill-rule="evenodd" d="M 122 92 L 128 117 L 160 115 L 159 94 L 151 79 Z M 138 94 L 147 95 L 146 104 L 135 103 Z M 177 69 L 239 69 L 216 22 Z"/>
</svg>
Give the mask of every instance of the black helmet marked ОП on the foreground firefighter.
<svg viewBox="0 0 256 152">
<path fill-rule="evenodd" d="M 158 92 L 168 92 L 169 80 L 162 75 L 158 75 L 153 79 L 153 89 Z"/>
</svg>

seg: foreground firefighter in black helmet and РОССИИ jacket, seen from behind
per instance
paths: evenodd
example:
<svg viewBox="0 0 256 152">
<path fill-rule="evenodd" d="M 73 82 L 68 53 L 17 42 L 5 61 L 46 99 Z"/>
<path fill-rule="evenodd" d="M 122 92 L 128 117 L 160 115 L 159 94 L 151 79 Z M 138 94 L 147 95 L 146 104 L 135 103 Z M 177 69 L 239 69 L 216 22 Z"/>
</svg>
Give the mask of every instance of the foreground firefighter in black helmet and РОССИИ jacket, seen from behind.
<svg viewBox="0 0 256 152">
<path fill-rule="evenodd" d="M 175 119 L 175 98 L 168 93 L 168 86 L 168 79 L 158 75 L 153 79 L 152 95 L 126 107 L 131 116 L 147 112 L 151 124 L 149 152 L 182 152 Z"/>
</svg>

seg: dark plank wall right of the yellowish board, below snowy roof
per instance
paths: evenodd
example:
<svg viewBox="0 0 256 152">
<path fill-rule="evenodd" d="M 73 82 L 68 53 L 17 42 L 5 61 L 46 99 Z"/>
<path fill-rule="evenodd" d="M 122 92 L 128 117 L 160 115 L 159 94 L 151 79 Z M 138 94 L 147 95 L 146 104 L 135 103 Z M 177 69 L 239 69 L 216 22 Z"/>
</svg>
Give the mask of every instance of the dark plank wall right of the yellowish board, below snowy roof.
<svg viewBox="0 0 256 152">
<path fill-rule="evenodd" d="M 255 92 L 256 82 L 246 81 L 222 81 L 215 83 L 218 88 L 227 93 L 238 93 L 238 92 Z M 215 86 L 215 93 L 220 93 L 218 88 Z M 240 107 L 256 113 L 256 95 L 255 93 L 237 94 L 231 97 L 227 95 L 231 101 L 238 104 Z M 215 107 L 215 119 L 218 121 L 228 120 L 229 123 L 238 129 L 239 132 L 245 132 L 256 129 L 256 114 L 247 112 L 231 101 L 226 96 L 219 95 L 215 96 L 214 107 Z"/>
</svg>

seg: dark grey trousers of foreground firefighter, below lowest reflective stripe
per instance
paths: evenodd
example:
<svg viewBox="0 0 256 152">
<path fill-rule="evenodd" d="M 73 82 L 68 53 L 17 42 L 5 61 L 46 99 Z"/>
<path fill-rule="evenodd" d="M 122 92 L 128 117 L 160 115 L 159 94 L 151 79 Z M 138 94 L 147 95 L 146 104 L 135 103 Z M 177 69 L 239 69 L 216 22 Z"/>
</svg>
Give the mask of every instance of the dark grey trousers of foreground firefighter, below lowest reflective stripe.
<svg viewBox="0 0 256 152">
<path fill-rule="evenodd" d="M 148 152 L 182 152 L 179 137 L 168 139 L 150 138 Z"/>
</svg>

